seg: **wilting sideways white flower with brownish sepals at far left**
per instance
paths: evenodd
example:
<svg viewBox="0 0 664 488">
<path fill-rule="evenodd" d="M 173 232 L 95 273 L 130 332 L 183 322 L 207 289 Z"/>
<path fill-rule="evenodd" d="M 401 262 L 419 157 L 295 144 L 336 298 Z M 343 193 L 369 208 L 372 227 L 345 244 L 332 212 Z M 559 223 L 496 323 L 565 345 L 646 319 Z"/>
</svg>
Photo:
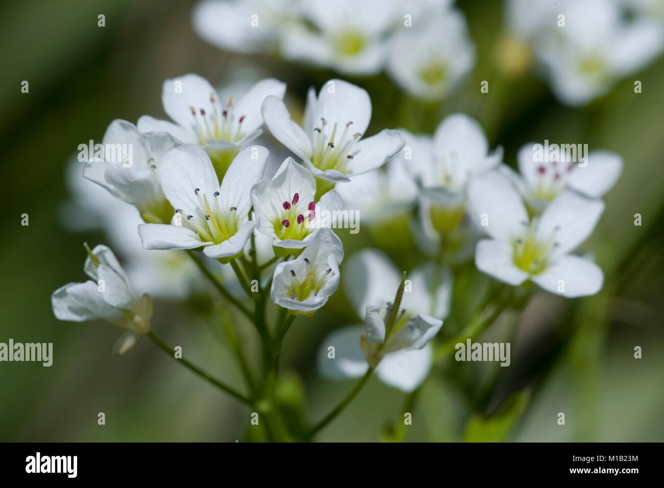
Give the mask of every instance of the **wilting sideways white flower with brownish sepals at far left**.
<svg viewBox="0 0 664 488">
<path fill-rule="evenodd" d="M 129 280 L 113 252 L 106 246 L 87 247 L 84 272 L 92 278 L 85 283 L 70 283 L 51 296 L 53 313 L 59 320 L 84 322 L 104 319 L 127 329 L 118 339 L 114 354 L 123 354 L 142 334 L 150 330 L 152 300 L 143 293 L 136 298 Z"/>
</svg>

